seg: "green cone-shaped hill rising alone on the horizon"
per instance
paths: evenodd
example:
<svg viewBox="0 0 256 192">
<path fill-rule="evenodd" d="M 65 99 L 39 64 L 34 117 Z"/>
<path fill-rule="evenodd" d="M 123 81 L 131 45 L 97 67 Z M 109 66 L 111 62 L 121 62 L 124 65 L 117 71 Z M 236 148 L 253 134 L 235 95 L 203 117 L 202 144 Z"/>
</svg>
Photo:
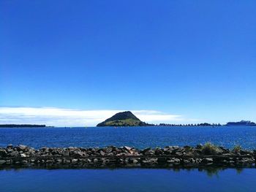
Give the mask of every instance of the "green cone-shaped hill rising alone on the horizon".
<svg viewBox="0 0 256 192">
<path fill-rule="evenodd" d="M 154 126 L 138 119 L 130 111 L 118 112 L 97 126 Z"/>
</svg>

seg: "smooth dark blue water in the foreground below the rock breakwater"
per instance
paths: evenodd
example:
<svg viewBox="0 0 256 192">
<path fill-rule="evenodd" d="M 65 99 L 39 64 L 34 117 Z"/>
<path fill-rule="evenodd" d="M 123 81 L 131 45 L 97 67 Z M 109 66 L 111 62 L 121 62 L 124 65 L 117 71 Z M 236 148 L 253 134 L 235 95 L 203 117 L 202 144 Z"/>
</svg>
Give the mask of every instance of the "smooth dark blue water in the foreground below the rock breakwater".
<svg viewBox="0 0 256 192">
<path fill-rule="evenodd" d="M 3 192 L 255 191 L 256 169 L 21 169 L 0 171 Z"/>
</svg>

